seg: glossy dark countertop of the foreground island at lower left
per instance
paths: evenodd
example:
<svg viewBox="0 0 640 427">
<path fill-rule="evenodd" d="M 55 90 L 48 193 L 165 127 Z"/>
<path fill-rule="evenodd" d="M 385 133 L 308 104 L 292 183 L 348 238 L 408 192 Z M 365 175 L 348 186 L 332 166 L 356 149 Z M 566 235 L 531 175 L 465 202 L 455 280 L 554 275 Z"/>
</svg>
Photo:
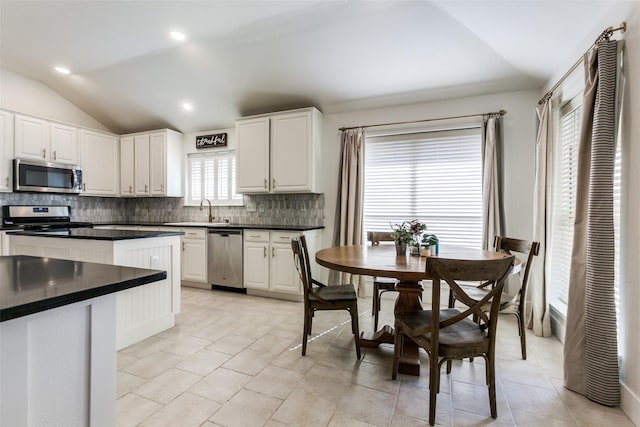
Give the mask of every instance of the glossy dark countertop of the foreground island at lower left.
<svg viewBox="0 0 640 427">
<path fill-rule="evenodd" d="M 167 278 L 166 271 L 0 256 L 0 322 Z"/>
</svg>

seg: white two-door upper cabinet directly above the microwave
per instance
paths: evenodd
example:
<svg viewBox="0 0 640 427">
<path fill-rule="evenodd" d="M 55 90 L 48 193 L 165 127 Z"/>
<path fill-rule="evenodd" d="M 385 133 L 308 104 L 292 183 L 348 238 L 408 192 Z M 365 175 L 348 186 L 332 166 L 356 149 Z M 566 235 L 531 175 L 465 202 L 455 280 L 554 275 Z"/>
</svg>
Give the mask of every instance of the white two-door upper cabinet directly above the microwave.
<svg viewBox="0 0 640 427">
<path fill-rule="evenodd" d="M 78 128 L 35 117 L 15 116 L 15 156 L 78 163 Z"/>
</svg>

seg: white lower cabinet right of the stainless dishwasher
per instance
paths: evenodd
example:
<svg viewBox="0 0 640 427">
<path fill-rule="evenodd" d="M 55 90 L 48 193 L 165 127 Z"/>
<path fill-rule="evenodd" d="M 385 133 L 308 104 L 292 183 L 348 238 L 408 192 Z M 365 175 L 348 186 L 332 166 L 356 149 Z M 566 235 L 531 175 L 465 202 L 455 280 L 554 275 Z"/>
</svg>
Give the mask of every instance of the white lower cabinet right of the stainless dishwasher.
<svg viewBox="0 0 640 427">
<path fill-rule="evenodd" d="M 301 234 L 245 230 L 243 273 L 248 294 L 295 300 L 301 298 L 302 283 L 291 250 L 291 239 Z M 305 231 L 304 235 L 311 255 L 315 253 L 318 231 Z"/>
</svg>

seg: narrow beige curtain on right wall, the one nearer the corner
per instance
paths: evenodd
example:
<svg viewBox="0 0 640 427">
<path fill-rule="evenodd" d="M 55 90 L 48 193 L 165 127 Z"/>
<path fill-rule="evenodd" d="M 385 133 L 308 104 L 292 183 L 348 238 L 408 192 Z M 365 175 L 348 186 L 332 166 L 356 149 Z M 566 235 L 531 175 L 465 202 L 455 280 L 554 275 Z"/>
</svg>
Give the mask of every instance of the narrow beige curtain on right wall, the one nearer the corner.
<svg viewBox="0 0 640 427">
<path fill-rule="evenodd" d="M 550 233 L 551 221 L 551 191 L 552 191 L 552 120 L 551 99 L 536 108 L 537 136 L 536 136 L 536 168 L 533 189 L 533 240 L 540 242 L 538 258 L 531 266 L 531 278 L 528 293 L 531 304 L 527 308 L 527 328 L 532 329 L 534 335 L 551 336 L 551 321 L 549 317 L 549 301 L 547 299 L 547 241 Z"/>
</svg>

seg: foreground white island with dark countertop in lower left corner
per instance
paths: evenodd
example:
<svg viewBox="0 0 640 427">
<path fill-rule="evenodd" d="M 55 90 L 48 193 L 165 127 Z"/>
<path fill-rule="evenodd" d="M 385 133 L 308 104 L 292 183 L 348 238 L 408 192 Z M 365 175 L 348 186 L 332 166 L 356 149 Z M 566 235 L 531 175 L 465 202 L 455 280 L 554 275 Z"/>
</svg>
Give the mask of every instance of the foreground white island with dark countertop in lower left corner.
<svg viewBox="0 0 640 427">
<path fill-rule="evenodd" d="M 166 277 L 0 257 L 0 425 L 115 425 L 117 296 Z"/>
</svg>

